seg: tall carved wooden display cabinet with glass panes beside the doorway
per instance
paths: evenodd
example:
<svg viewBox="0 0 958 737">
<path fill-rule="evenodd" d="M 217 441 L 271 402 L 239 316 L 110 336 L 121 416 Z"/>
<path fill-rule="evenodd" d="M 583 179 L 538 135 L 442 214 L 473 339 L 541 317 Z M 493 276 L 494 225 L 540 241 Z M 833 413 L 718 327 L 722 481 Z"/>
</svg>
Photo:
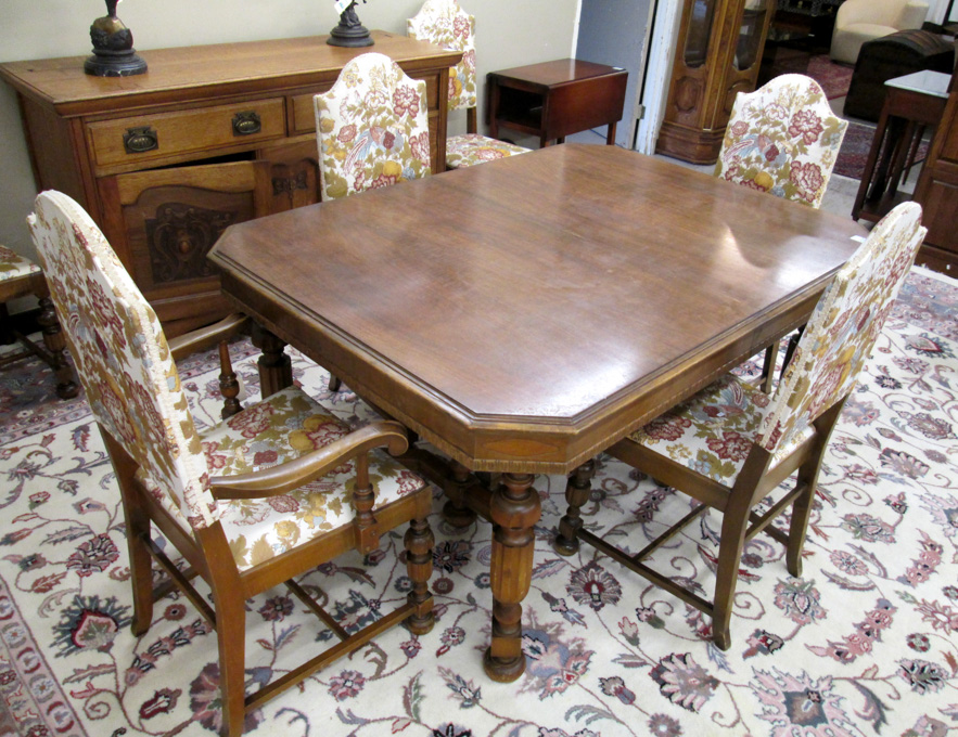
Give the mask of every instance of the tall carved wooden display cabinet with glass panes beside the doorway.
<svg viewBox="0 0 958 737">
<path fill-rule="evenodd" d="M 739 92 L 755 89 L 772 0 L 685 0 L 655 153 L 718 158 Z"/>
</svg>

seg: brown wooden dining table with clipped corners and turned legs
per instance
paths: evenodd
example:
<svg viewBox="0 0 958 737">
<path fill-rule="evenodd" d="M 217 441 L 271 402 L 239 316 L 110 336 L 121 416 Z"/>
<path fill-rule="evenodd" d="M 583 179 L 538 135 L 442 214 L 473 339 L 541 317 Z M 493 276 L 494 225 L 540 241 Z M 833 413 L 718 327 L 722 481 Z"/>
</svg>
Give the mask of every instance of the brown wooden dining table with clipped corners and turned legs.
<svg viewBox="0 0 958 737">
<path fill-rule="evenodd" d="M 442 486 L 447 520 L 493 523 L 484 668 L 509 682 L 536 475 L 580 500 L 604 449 L 803 325 L 866 233 L 566 143 L 239 223 L 209 258 L 258 326 L 264 396 L 292 382 L 294 346 L 409 428 L 404 460 Z"/>
</svg>

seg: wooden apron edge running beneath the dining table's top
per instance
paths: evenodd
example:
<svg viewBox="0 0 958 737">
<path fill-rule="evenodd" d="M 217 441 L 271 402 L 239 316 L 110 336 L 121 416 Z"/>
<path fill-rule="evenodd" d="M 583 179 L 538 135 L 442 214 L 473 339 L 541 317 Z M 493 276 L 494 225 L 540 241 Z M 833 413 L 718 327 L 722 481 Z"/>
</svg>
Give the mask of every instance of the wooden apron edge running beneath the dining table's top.
<svg viewBox="0 0 958 737">
<path fill-rule="evenodd" d="M 431 393 L 429 387 L 405 380 L 397 370 L 362 354 L 359 347 L 332 328 L 317 327 L 295 305 L 270 299 L 250 281 L 229 271 L 222 274 L 222 288 L 239 310 L 264 328 L 470 470 L 566 475 L 803 325 L 827 281 L 821 280 L 757 323 L 711 341 L 698 360 L 679 362 L 686 363 L 685 367 L 665 366 L 642 387 L 611 397 L 591 415 L 548 426 L 533 418 L 509 422 L 503 417 L 470 417 L 450 405 L 443 406 L 438 393 L 432 395 L 435 399 L 424 400 Z"/>
</svg>

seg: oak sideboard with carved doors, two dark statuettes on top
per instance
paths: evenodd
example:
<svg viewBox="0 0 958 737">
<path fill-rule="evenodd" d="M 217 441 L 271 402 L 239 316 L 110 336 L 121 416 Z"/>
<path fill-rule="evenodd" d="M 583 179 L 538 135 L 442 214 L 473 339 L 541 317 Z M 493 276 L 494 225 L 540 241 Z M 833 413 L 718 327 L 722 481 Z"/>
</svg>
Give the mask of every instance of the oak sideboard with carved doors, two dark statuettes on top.
<svg viewBox="0 0 958 737">
<path fill-rule="evenodd" d="M 82 56 L 11 62 L 0 79 L 16 90 L 38 191 L 87 209 L 173 336 L 227 310 L 205 256 L 228 225 L 318 201 L 312 95 L 354 56 L 376 51 L 425 80 L 433 171 L 445 169 L 461 53 L 372 36 L 365 49 L 318 36 L 139 51 L 149 69 L 132 77 L 87 75 Z"/>
</svg>

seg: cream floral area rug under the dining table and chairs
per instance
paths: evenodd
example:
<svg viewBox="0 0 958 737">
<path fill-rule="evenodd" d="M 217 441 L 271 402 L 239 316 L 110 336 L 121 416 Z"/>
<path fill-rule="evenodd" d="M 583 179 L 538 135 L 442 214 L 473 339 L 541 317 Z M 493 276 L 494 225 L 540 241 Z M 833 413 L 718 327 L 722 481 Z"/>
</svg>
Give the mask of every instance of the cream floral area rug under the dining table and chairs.
<svg viewBox="0 0 958 737">
<path fill-rule="evenodd" d="M 944 737 L 958 733 L 958 283 L 915 270 L 833 435 L 804 561 L 751 542 L 716 649 L 697 610 L 597 555 L 551 546 L 564 479 L 539 477 L 527 668 L 483 673 L 491 528 L 432 516 L 437 621 L 362 647 L 252 713 L 247 734 L 339 737 Z M 248 344 L 234 346 L 251 396 Z M 336 414 L 370 411 L 294 353 L 295 379 Z M 200 422 L 217 416 L 212 354 L 181 364 Z M 755 372 L 754 365 L 746 372 Z M 219 727 L 216 636 L 183 597 L 132 615 L 124 525 L 110 464 L 81 398 L 61 402 L 41 364 L 0 373 L 0 734 L 207 735 Z M 633 549 L 688 512 L 687 497 L 600 456 L 587 525 Z M 654 559 L 711 595 L 719 518 Z M 401 530 L 400 530 L 401 533 Z M 406 594 L 399 534 L 301 581 L 346 622 Z M 251 600 L 247 688 L 299 662 L 329 633 L 285 590 Z"/>
</svg>

